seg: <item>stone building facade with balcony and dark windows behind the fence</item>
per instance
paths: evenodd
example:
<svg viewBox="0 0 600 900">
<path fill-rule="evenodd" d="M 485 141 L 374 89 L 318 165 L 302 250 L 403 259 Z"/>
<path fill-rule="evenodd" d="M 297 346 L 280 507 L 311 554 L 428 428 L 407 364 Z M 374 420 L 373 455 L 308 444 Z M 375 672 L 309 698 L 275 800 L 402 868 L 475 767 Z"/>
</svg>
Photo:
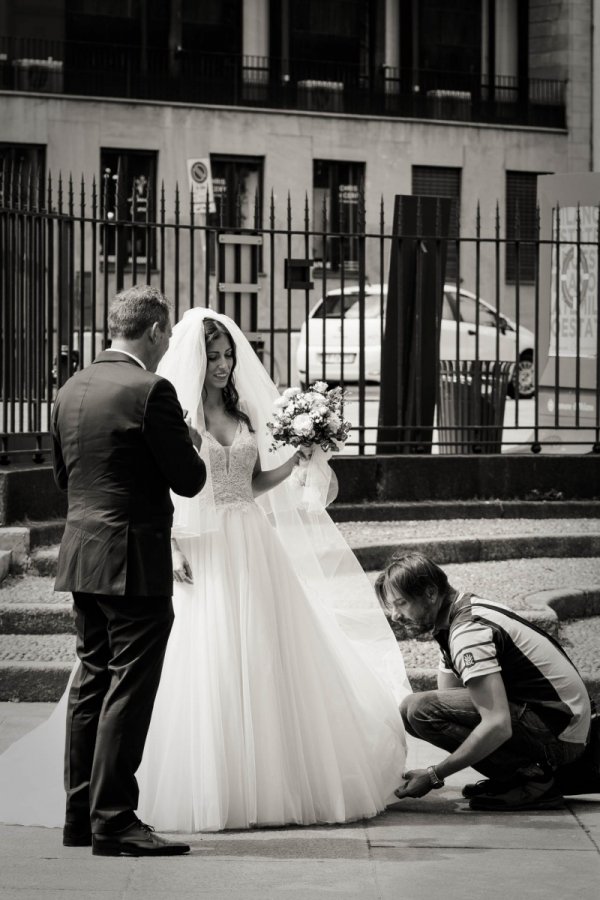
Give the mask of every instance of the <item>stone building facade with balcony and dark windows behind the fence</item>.
<svg viewBox="0 0 600 900">
<path fill-rule="evenodd" d="M 505 241 L 534 234 L 539 174 L 598 165 L 599 15 L 598 0 L 4 0 L 2 189 L 43 193 L 62 173 L 105 218 L 169 224 L 191 205 L 233 230 L 287 229 L 291 210 L 309 246 L 294 238 L 278 256 L 312 261 L 311 302 L 356 278 L 352 235 L 389 231 L 395 195 L 450 196 L 461 243 L 447 278 L 500 293 L 531 325 L 531 253 Z M 203 204 L 190 201 L 194 163 L 212 182 Z M 164 257 L 138 237 L 126 268 L 157 271 Z M 106 229 L 91 240 L 100 270 L 115 248 Z M 274 246 L 259 257 L 259 309 L 286 306 Z M 194 278 L 211 291 L 207 252 Z M 193 253 L 182 241 L 182 269 Z M 385 279 L 377 241 L 364 265 Z M 183 285 L 183 305 L 199 295 Z M 287 325 L 305 312 L 288 304 Z"/>
</svg>

